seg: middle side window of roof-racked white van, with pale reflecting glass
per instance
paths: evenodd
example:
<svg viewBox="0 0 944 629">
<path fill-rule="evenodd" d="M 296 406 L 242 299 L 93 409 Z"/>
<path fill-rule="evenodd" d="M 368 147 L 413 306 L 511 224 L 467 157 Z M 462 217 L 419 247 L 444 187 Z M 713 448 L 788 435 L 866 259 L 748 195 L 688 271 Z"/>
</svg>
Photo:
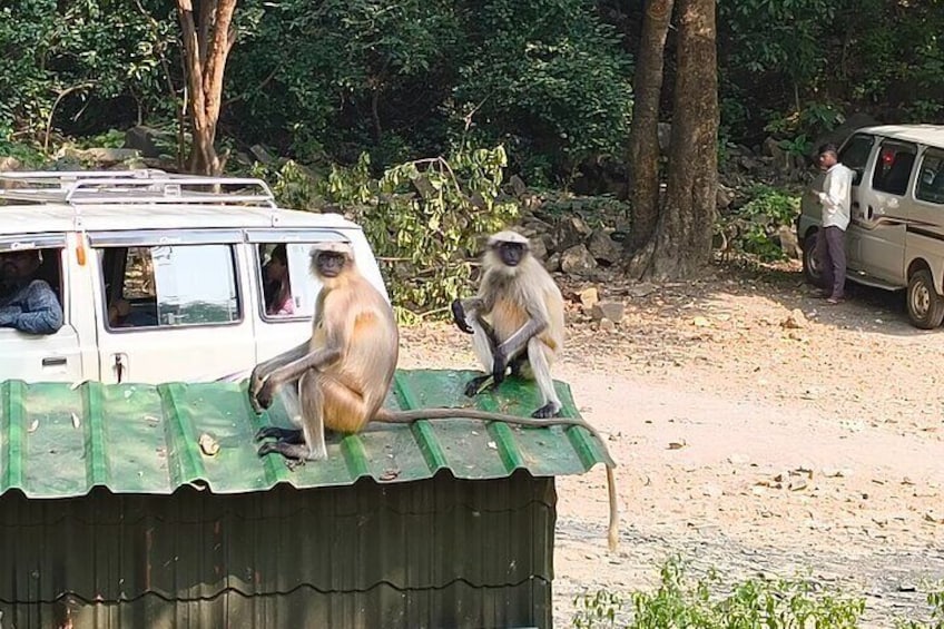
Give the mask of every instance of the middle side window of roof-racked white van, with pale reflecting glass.
<svg viewBox="0 0 944 629">
<path fill-rule="evenodd" d="M 108 247 L 101 267 L 109 328 L 219 325 L 242 318 L 229 245 Z"/>
</svg>

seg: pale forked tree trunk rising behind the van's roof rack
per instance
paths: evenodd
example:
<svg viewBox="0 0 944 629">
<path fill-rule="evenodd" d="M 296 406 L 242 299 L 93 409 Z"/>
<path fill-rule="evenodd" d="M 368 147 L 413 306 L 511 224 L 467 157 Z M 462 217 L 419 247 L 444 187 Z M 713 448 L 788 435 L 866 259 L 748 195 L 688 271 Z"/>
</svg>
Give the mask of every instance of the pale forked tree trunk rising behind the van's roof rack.
<svg viewBox="0 0 944 629">
<path fill-rule="evenodd" d="M 196 175 L 219 175 L 216 125 L 223 100 L 226 58 L 236 39 L 233 12 L 236 0 L 200 0 L 199 24 L 191 0 L 177 0 L 187 73 L 187 108 L 194 134 L 188 169 Z"/>
</svg>

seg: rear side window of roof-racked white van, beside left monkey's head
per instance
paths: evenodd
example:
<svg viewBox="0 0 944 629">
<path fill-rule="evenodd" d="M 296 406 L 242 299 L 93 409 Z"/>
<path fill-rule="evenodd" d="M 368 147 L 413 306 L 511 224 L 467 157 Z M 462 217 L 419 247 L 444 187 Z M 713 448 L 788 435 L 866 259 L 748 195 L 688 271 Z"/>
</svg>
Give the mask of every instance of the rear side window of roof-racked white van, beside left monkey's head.
<svg viewBox="0 0 944 629">
<path fill-rule="evenodd" d="M 263 318 L 285 321 L 311 318 L 321 286 L 308 272 L 312 243 L 263 243 L 258 245 Z"/>
</svg>

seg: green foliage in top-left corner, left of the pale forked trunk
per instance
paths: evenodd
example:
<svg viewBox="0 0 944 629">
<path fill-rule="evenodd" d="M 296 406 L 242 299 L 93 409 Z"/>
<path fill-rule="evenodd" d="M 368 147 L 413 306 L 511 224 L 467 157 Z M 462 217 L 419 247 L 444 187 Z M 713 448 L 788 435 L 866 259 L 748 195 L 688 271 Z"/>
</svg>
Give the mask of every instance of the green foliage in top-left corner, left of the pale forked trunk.
<svg viewBox="0 0 944 629">
<path fill-rule="evenodd" d="M 58 122 L 80 130 L 161 111 L 159 59 L 174 32 L 173 21 L 155 26 L 135 2 L 122 0 L 4 3 L 0 132 L 6 128 L 39 137 L 50 116 L 53 127 Z M 121 107 L 95 106 L 108 101 Z"/>
</svg>

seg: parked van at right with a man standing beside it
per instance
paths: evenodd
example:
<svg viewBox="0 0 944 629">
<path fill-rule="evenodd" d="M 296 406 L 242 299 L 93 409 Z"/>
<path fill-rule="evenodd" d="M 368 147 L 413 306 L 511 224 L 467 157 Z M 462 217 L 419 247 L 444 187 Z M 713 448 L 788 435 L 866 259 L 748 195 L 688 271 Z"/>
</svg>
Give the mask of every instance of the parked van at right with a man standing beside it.
<svg viewBox="0 0 944 629">
<path fill-rule="evenodd" d="M 913 325 L 944 320 L 944 126 L 886 125 L 857 129 L 839 148 L 855 171 L 846 232 L 847 278 L 888 291 L 907 289 Z M 813 183 L 820 189 L 824 175 Z M 820 206 L 806 194 L 797 218 L 803 268 L 819 285 L 814 257 Z"/>
</svg>

